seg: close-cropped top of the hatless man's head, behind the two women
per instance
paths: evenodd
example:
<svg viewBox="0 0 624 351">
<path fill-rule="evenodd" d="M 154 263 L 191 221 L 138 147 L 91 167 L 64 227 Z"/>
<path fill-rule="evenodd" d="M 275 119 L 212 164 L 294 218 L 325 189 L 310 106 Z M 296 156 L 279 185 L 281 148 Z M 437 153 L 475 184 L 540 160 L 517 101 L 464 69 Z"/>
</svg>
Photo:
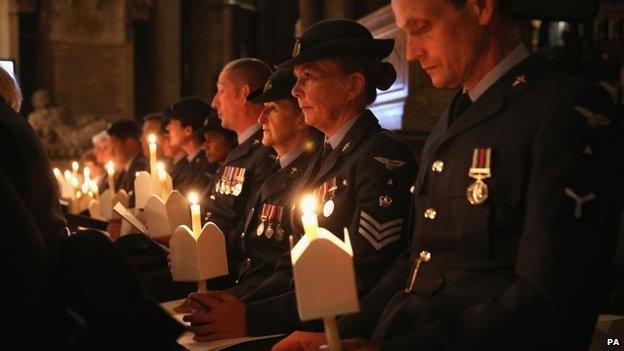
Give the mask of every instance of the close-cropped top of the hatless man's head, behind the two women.
<svg viewBox="0 0 624 351">
<path fill-rule="evenodd" d="M 235 83 L 238 88 L 248 85 L 250 91 L 254 91 L 262 86 L 271 75 L 271 68 L 255 58 L 242 58 L 229 62 L 223 67 L 228 79 Z"/>
</svg>

